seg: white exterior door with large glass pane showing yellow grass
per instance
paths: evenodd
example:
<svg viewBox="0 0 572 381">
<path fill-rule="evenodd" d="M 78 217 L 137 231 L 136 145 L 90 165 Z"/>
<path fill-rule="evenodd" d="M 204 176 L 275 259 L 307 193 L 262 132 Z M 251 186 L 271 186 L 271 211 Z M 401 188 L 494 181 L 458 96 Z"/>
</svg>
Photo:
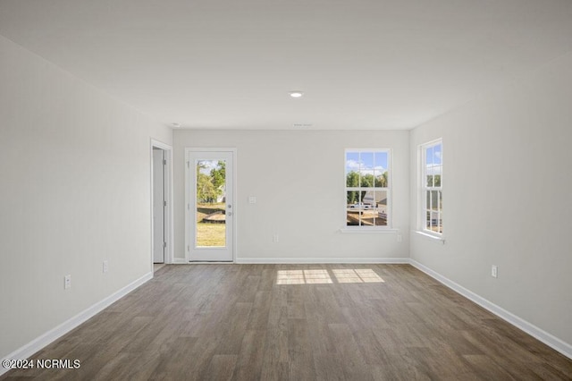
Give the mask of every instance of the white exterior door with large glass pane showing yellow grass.
<svg viewBox="0 0 572 381">
<path fill-rule="evenodd" d="M 187 150 L 189 261 L 232 261 L 233 151 Z"/>
</svg>

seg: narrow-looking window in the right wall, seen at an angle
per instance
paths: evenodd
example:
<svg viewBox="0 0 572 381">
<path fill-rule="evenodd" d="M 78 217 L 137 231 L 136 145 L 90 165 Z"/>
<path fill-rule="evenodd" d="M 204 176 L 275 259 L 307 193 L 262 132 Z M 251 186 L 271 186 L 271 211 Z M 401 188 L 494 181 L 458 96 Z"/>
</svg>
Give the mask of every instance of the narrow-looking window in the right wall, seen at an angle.
<svg viewBox="0 0 572 381">
<path fill-rule="evenodd" d="M 421 146 L 420 228 L 425 233 L 443 233 L 442 140 Z"/>
</svg>

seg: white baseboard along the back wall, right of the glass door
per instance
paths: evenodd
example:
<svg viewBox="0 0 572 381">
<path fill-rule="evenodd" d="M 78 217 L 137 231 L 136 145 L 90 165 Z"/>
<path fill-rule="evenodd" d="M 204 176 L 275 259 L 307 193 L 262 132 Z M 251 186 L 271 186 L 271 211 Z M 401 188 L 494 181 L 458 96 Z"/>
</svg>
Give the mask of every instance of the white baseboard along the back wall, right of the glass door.
<svg viewBox="0 0 572 381">
<path fill-rule="evenodd" d="M 408 264 L 409 258 L 236 258 L 238 264 L 309 265 L 309 264 Z"/>
</svg>

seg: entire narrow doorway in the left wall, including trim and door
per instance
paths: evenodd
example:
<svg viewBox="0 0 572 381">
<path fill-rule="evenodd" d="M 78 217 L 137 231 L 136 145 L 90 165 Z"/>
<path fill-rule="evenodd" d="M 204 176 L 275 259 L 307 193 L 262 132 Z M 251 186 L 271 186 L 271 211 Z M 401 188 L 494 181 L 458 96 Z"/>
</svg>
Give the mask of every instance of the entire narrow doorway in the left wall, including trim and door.
<svg viewBox="0 0 572 381">
<path fill-rule="evenodd" d="M 172 148 L 151 140 L 151 262 L 172 263 Z"/>
</svg>

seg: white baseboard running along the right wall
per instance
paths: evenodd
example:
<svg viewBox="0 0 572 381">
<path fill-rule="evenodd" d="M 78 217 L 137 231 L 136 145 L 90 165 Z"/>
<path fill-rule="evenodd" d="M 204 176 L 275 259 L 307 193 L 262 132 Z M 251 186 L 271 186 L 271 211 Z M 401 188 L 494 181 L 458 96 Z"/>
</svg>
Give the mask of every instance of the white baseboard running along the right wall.
<svg viewBox="0 0 572 381">
<path fill-rule="evenodd" d="M 567 356 L 568 359 L 572 359 L 572 345 L 570 345 L 569 343 L 560 340 L 558 337 L 549 334 L 543 329 L 534 326 L 533 324 L 527 322 L 522 318 L 518 318 L 516 315 L 507 311 L 506 309 L 502 309 L 501 307 L 497 306 L 491 301 L 487 301 L 483 297 L 477 295 L 475 292 L 467 290 L 462 285 L 456 284 L 449 278 L 446 278 L 445 276 L 433 271 L 431 268 L 425 267 L 424 265 L 417 262 L 415 259 L 409 258 L 409 263 L 411 264 L 411 266 L 416 267 L 417 269 L 423 271 L 426 275 L 429 275 L 432 278 L 436 279 L 437 281 L 441 282 L 442 284 L 446 285 L 454 292 L 458 292 L 459 294 L 466 297 L 468 300 L 474 301 L 476 304 L 483 307 L 484 309 L 488 309 L 499 318 L 506 320 L 507 322 L 509 322 L 513 326 L 516 326 L 517 328 L 522 329 L 523 331 L 526 332 L 526 334 L 530 334 L 534 338 L 550 346 L 552 349 L 559 351 L 564 356 Z"/>
</svg>

